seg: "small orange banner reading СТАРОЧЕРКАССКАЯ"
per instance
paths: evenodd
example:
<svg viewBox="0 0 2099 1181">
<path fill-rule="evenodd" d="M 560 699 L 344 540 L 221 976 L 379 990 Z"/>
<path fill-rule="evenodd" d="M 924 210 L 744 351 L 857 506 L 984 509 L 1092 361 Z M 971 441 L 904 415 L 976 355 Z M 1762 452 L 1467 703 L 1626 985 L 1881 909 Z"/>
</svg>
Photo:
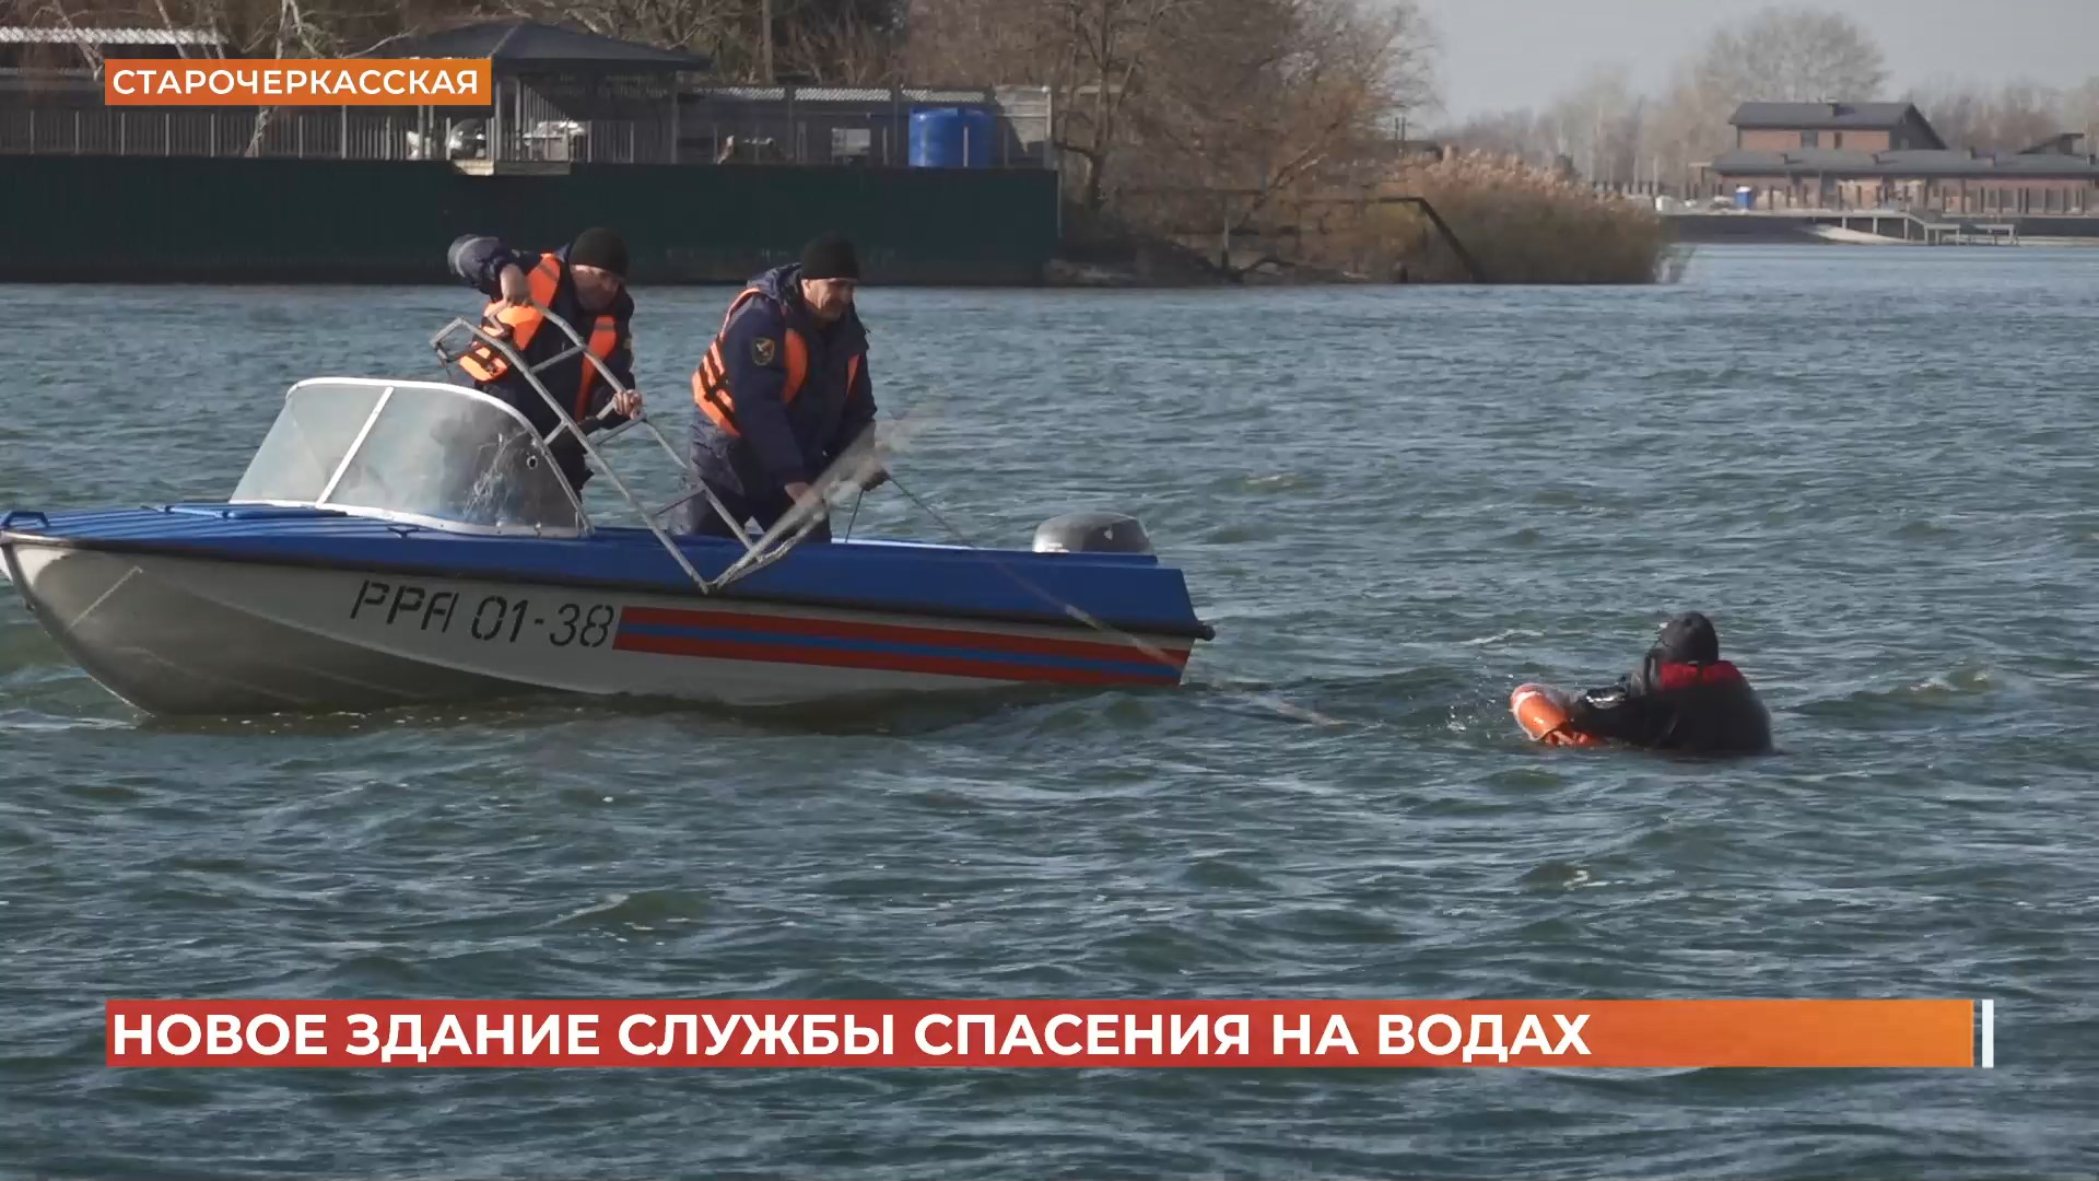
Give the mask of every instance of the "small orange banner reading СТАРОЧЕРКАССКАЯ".
<svg viewBox="0 0 2099 1181">
<path fill-rule="evenodd" d="M 472 57 L 107 59 L 111 107 L 493 107 Z"/>
</svg>

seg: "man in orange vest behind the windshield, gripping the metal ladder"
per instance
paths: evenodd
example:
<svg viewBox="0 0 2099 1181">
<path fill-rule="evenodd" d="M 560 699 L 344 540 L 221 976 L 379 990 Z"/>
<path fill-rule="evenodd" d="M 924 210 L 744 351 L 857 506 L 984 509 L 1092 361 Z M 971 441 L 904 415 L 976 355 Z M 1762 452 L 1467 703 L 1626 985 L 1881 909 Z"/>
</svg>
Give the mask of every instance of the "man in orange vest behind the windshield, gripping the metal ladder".
<svg viewBox="0 0 2099 1181">
<path fill-rule="evenodd" d="M 640 393 L 634 393 L 634 296 L 626 290 L 628 244 L 611 229 L 586 229 L 560 250 L 529 252 L 512 250 L 497 237 L 462 235 L 445 252 L 451 273 L 468 286 L 491 296 L 487 319 L 510 330 L 510 347 L 525 357 L 527 366 L 537 366 L 575 343 L 569 334 L 548 324 L 539 307 L 569 322 L 590 351 L 619 378 L 621 393 L 613 393 L 598 366 L 581 355 L 539 370 L 539 382 L 563 401 L 577 427 L 598 410 L 605 418 L 590 424 L 590 431 L 617 427 L 642 408 Z M 539 305 L 539 307 L 533 307 Z M 474 378 L 474 387 L 514 406 L 546 437 L 560 424 L 554 408 L 521 376 L 510 372 L 510 359 L 476 343 L 460 357 L 460 368 Z M 584 448 L 573 433 L 563 433 L 552 446 L 560 475 L 577 494 L 590 479 L 584 464 Z"/>
</svg>

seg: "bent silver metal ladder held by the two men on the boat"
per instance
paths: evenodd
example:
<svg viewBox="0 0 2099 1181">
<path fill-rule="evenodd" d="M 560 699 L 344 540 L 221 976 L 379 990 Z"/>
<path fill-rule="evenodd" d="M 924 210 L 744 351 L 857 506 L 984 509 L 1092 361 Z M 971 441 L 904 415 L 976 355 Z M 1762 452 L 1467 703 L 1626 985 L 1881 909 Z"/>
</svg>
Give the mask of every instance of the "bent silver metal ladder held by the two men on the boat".
<svg viewBox="0 0 2099 1181">
<path fill-rule="evenodd" d="M 483 345 L 508 357 L 510 368 L 518 372 L 533 387 L 533 391 L 539 393 L 539 399 L 546 401 L 548 408 L 554 412 L 554 416 L 560 420 L 539 441 L 552 448 L 563 433 L 575 435 L 575 441 L 584 448 L 584 452 L 592 460 L 598 462 L 598 469 L 605 473 L 605 477 L 613 481 L 613 488 L 619 490 L 619 496 L 628 502 L 630 509 L 634 509 L 634 515 L 640 517 L 642 525 L 646 525 L 649 532 L 655 536 L 655 540 L 665 548 L 665 553 L 670 553 L 672 561 L 676 561 L 678 567 L 684 569 L 686 578 L 693 580 L 693 586 L 697 586 L 701 595 L 714 595 L 716 590 L 737 582 L 739 578 L 747 578 L 764 569 L 766 565 L 772 565 L 775 561 L 787 557 L 787 553 L 791 553 L 802 542 L 802 538 L 806 538 L 817 527 L 817 523 L 823 521 L 823 513 L 817 509 L 806 511 L 808 517 L 806 521 L 798 521 L 796 511 L 789 511 L 770 530 L 766 530 L 764 536 L 751 540 L 749 534 L 743 530 L 743 521 L 737 521 L 728 515 L 728 509 L 722 506 L 722 500 L 714 494 L 714 490 L 699 479 L 699 473 L 695 473 L 693 467 L 684 462 L 684 456 L 678 454 L 678 448 L 674 448 L 672 441 L 663 437 L 663 431 L 657 431 L 655 422 L 649 420 L 646 410 L 634 418 L 628 418 L 619 427 L 613 427 L 600 439 L 611 441 L 634 424 L 646 427 L 649 433 L 655 435 L 655 441 L 663 448 L 663 454 L 667 454 L 672 462 L 678 467 L 678 471 L 684 475 L 693 492 L 667 504 L 659 504 L 657 509 L 644 509 L 640 498 L 634 496 L 634 490 L 628 488 L 628 481 L 619 479 L 619 473 L 613 469 L 613 464 L 607 462 L 605 454 L 600 454 L 598 446 L 590 441 L 590 435 L 584 431 L 584 427 L 577 424 L 577 420 L 569 414 L 569 408 L 563 406 L 560 399 L 546 389 L 546 382 L 539 380 L 539 372 L 560 361 L 567 361 L 569 357 L 581 355 L 586 364 L 596 366 L 598 376 L 605 378 L 605 385 L 609 389 L 613 389 L 615 393 L 628 393 L 628 387 L 623 387 L 619 378 L 613 376 L 613 370 L 605 364 L 605 359 L 600 359 L 596 353 L 590 351 L 590 347 L 584 343 L 584 336 L 567 319 L 556 315 L 554 309 L 539 305 L 537 301 L 533 303 L 533 307 L 539 311 L 539 315 L 546 317 L 548 324 L 560 328 L 560 332 L 569 338 L 567 349 L 539 361 L 537 366 L 525 364 L 525 357 L 521 357 L 518 351 L 506 338 L 508 334 L 489 332 L 483 324 L 470 322 L 466 317 L 453 317 L 449 324 L 439 328 L 437 334 L 430 336 L 430 347 L 437 351 L 439 359 L 445 366 L 453 366 L 460 361 L 460 357 L 466 355 L 470 345 L 460 345 L 458 351 L 451 351 L 447 349 L 445 338 L 451 336 L 453 332 L 464 330 L 474 340 L 481 340 Z M 590 420 L 596 422 L 602 416 L 605 412 L 598 412 L 590 416 Z M 858 448 L 861 443 L 854 446 Z M 865 458 L 867 456 L 863 456 L 863 462 Z M 854 464 L 833 462 L 829 471 L 825 471 L 814 483 L 810 483 L 812 504 L 821 506 L 831 488 L 844 481 L 846 475 L 856 471 L 858 467 L 861 467 L 858 462 Z M 678 542 L 674 542 L 670 534 L 665 534 L 663 527 L 657 523 L 657 519 L 663 513 L 678 509 L 680 504 L 684 504 L 695 496 L 705 496 L 707 504 L 714 506 L 714 511 L 722 517 L 722 521 L 728 523 L 728 530 L 743 542 L 743 557 L 739 557 L 718 578 L 712 580 L 693 567 L 693 563 L 684 557 L 684 551 L 678 548 Z M 588 513 L 584 519 L 588 523 L 590 519 Z"/>
</svg>

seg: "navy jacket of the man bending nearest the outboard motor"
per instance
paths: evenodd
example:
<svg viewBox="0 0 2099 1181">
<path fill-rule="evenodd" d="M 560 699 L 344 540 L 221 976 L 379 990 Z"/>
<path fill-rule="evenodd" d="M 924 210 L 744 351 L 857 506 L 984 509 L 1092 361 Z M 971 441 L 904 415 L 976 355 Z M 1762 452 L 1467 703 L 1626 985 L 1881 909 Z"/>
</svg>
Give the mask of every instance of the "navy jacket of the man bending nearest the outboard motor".
<svg viewBox="0 0 2099 1181">
<path fill-rule="evenodd" d="M 875 387 L 867 374 L 867 328 L 858 309 L 819 328 L 802 303 L 802 267 L 775 267 L 747 286 L 764 292 L 728 322 L 722 364 L 735 422 L 743 437 L 693 414 L 693 467 L 718 492 L 768 502 L 789 483 L 810 483 L 875 420 Z M 808 343 L 808 376 L 791 403 L 785 330 Z M 762 347 L 760 340 L 770 345 Z M 861 372 L 848 389 L 848 361 Z"/>
</svg>

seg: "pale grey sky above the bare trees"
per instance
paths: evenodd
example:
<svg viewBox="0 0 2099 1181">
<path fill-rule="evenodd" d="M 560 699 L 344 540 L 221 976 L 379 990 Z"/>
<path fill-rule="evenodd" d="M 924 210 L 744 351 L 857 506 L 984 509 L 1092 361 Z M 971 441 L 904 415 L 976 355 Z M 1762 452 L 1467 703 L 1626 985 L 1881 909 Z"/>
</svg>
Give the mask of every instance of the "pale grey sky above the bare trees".
<svg viewBox="0 0 2099 1181">
<path fill-rule="evenodd" d="M 1881 46 L 1893 99 L 1908 86 L 2028 78 L 2076 86 L 2099 74 L 2099 0 L 1805 0 L 1864 25 Z M 1450 120 L 1543 107 L 1591 69 L 1620 63 L 1658 92 L 1677 61 L 1761 0 L 1417 0 L 1436 25 L 1438 88 Z M 1872 99 L 1874 95 L 1860 95 Z"/>
</svg>

